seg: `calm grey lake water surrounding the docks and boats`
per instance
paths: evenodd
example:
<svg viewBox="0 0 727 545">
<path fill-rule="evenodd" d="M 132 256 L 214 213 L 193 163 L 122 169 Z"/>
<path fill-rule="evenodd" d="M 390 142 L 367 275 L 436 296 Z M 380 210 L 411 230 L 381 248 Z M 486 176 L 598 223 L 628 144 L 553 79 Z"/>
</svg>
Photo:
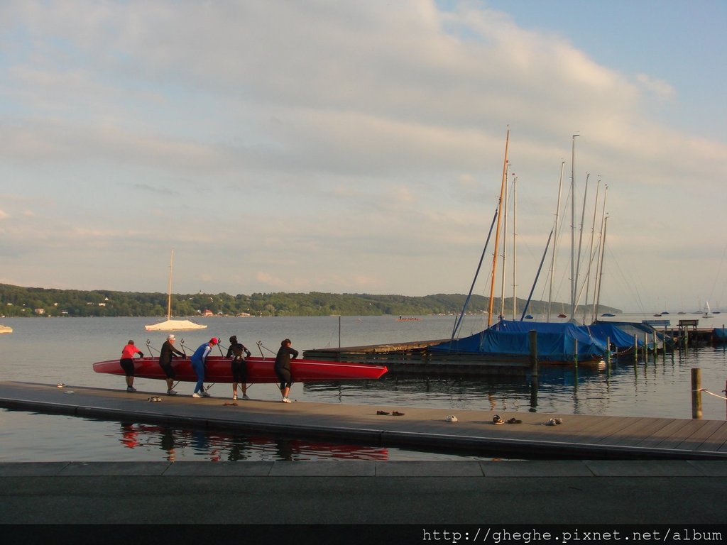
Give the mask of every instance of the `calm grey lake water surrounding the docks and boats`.
<svg viewBox="0 0 727 545">
<path fill-rule="evenodd" d="M 196 318 L 208 328 L 177 332 L 187 351 L 212 336 L 227 344 L 237 335 L 254 353 L 276 350 L 289 338 L 297 350 L 446 339 L 454 325 L 452 316 L 422 316 L 397 320 L 392 316 L 324 318 Z M 640 321 L 650 315 L 619 315 L 615 319 Z M 666 319 L 667 316 L 662 317 Z M 672 317 L 676 321 L 677 316 Z M 683 315 L 678 318 L 692 318 Z M 727 315 L 725 316 L 727 319 Z M 0 335 L 0 379 L 4 381 L 70 386 L 124 387 L 123 376 L 95 374 L 92 363 L 118 358 L 121 347 L 134 339 L 151 353 L 165 333 L 145 331 L 150 318 L 4 318 L 12 334 Z M 706 325 L 700 320 L 700 325 Z M 710 324 L 720 327 L 721 315 Z M 462 336 L 480 331 L 484 318 L 465 320 Z M 179 342 L 177 342 L 179 346 Z M 542 366 L 537 405 L 531 400 L 529 379 L 385 375 L 375 382 L 294 384 L 295 400 L 364 405 L 396 405 L 487 411 L 593 414 L 691 418 L 691 368 L 702 369 L 702 387 L 723 395 L 727 379 L 727 347 L 705 346 L 659 355 L 634 363 L 632 358 L 605 370 L 570 366 Z M 164 393 L 164 383 L 136 379 L 140 391 Z M 180 383 L 180 394 L 191 394 L 193 384 Z M 212 395 L 227 397 L 230 385 L 217 384 Z M 254 384 L 249 395 L 278 400 L 273 384 Z M 724 420 L 725 401 L 703 395 L 704 419 Z M 337 445 L 284 437 L 246 437 L 172 429 L 141 422 L 110 422 L 71 416 L 44 415 L 0 409 L 0 461 L 162 461 L 162 460 L 318 460 L 388 459 L 441 460 L 483 456 L 447 452 L 406 451 L 370 445 Z"/>
</svg>

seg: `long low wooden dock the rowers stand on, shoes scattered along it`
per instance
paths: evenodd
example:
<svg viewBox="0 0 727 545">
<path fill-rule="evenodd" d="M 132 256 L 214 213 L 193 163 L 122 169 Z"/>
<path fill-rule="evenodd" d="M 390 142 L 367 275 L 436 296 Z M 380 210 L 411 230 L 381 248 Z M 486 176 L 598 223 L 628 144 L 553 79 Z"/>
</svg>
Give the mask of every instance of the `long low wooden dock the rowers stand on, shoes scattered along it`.
<svg viewBox="0 0 727 545">
<path fill-rule="evenodd" d="M 195 399 L 158 392 L 0 382 L 0 406 L 110 420 L 318 438 L 384 447 L 446 449 L 524 459 L 727 459 L 727 421 L 417 408 L 395 405 Z M 382 411 L 387 414 L 379 414 Z M 401 416 L 395 416 L 398 411 Z M 446 417 L 457 416 L 456 422 Z M 550 419 L 562 419 L 550 425 Z"/>
</svg>

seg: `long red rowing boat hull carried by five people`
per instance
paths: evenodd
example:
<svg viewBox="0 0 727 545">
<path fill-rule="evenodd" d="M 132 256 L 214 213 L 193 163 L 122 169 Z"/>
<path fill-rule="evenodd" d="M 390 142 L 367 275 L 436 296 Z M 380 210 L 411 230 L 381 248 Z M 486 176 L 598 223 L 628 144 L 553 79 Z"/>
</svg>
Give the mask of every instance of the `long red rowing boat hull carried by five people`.
<svg viewBox="0 0 727 545">
<path fill-rule="evenodd" d="M 247 382 L 280 382 L 275 374 L 275 360 L 251 357 L 246 359 Z M 189 358 L 174 358 L 172 362 L 174 380 L 197 382 L 197 375 Z M 124 375 L 119 360 L 100 361 L 93 364 L 96 373 Z M 342 363 L 318 360 L 291 360 L 290 371 L 293 382 L 325 382 L 332 380 L 379 379 L 388 369 L 382 366 L 369 366 L 365 363 Z M 142 379 L 166 379 L 164 369 L 159 366 L 158 358 L 134 358 L 134 376 Z M 229 358 L 208 356 L 204 371 L 205 382 L 231 383 L 232 366 Z"/>
</svg>

